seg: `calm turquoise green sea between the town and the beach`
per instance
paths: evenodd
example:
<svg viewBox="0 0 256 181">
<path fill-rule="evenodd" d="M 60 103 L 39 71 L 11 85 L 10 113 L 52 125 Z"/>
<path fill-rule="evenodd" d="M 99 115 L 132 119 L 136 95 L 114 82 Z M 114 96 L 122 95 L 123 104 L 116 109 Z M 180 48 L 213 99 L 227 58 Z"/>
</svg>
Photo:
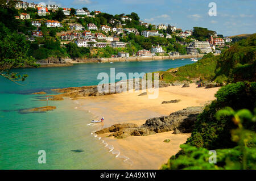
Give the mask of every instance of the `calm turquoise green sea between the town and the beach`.
<svg viewBox="0 0 256 181">
<path fill-rule="evenodd" d="M 142 73 L 192 64 L 189 59 L 113 64 L 77 64 L 63 68 L 16 69 L 29 77 L 23 86 L 0 77 L 0 169 L 125 169 L 129 165 L 115 159 L 101 140 L 90 134 L 93 115 L 76 110 L 76 102 L 49 101 L 57 109 L 44 113 L 24 113 L 26 108 L 46 106 L 45 95 L 32 92 L 97 85 L 100 72 Z M 46 164 L 38 163 L 38 151 L 46 151 Z"/>
</svg>

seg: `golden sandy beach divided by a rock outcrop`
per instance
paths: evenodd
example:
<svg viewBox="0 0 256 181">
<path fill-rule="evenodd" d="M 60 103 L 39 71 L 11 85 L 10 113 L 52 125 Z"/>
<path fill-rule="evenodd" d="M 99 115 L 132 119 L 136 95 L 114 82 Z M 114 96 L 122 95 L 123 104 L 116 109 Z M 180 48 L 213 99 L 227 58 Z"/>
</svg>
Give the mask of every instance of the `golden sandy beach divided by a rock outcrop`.
<svg viewBox="0 0 256 181">
<path fill-rule="evenodd" d="M 214 100 L 214 94 L 220 89 L 197 88 L 192 83 L 190 87 L 170 86 L 159 89 L 156 99 L 148 99 L 147 95 L 138 96 L 142 92 L 123 92 L 121 94 L 86 97 L 78 99 L 79 109 L 90 111 L 95 119 L 104 116 L 104 123 L 100 128 L 110 127 L 117 123 L 135 123 L 142 125 L 147 119 L 170 115 L 170 113 L 191 106 L 204 106 Z M 162 104 L 163 101 L 180 99 L 179 103 Z M 89 123 L 90 120 L 88 120 Z M 158 133 L 150 136 L 130 136 L 118 140 L 108 137 L 109 133 L 101 135 L 105 142 L 119 150 L 120 155 L 130 158 L 133 165 L 127 169 L 159 169 L 168 158 L 179 151 L 190 133 L 172 134 L 172 132 Z M 163 142 L 166 139 L 171 141 Z"/>
</svg>

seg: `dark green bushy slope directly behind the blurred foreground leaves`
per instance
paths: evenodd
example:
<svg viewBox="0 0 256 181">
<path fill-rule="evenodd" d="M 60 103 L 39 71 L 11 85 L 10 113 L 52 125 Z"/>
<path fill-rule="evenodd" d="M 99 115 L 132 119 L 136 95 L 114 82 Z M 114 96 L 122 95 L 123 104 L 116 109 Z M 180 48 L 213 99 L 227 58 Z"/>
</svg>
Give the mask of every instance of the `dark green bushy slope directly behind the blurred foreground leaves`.
<svg viewBox="0 0 256 181">
<path fill-rule="evenodd" d="M 216 119 L 216 112 L 225 107 L 232 107 L 234 110 L 246 108 L 253 111 L 255 102 L 256 83 L 237 82 L 222 87 L 216 93 L 216 100 L 206 106 L 204 112 L 199 115 L 192 135 L 187 144 L 204 147 L 207 149 L 232 148 L 236 142 L 231 140 L 230 130 L 237 126 L 233 124 L 232 117 Z M 246 129 L 255 131 L 255 124 L 250 121 L 243 123 Z"/>
</svg>

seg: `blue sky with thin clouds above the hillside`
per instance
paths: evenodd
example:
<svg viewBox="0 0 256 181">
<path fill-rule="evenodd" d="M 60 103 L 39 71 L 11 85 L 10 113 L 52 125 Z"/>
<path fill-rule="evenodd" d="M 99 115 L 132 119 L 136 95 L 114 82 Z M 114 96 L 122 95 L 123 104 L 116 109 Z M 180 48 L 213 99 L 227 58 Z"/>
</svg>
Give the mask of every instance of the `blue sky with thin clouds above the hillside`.
<svg viewBox="0 0 256 181">
<path fill-rule="evenodd" d="M 26 1 L 26 0 L 25 0 Z M 192 30 L 205 27 L 224 36 L 255 33 L 256 0 L 28 0 L 44 2 L 60 7 L 89 11 L 100 10 L 109 14 L 136 12 L 141 20 L 151 24 L 171 24 L 177 28 Z M 210 16 L 209 3 L 216 4 L 216 16 Z"/>
</svg>

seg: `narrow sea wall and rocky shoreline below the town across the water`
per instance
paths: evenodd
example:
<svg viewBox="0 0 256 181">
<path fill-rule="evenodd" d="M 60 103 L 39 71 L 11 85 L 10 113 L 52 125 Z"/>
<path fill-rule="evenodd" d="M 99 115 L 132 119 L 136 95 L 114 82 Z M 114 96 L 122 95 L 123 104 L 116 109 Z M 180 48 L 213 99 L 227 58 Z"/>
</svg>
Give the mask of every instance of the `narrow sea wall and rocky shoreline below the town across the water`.
<svg viewBox="0 0 256 181">
<path fill-rule="evenodd" d="M 217 56 L 218 54 L 214 54 L 214 56 Z M 47 64 L 47 63 L 40 63 L 37 62 L 38 64 L 40 64 L 40 68 L 50 68 L 50 67 L 65 67 L 65 66 L 73 66 L 74 64 L 92 64 L 92 63 L 98 63 L 98 62 L 102 62 L 102 63 L 108 63 L 108 62 L 127 62 L 127 61 L 131 61 L 131 62 L 142 62 L 142 61 L 162 61 L 162 60 L 179 60 L 182 58 L 201 58 L 203 57 L 204 54 L 197 54 L 197 55 L 181 55 L 181 56 L 152 56 L 152 57 L 129 57 L 129 58 L 121 58 L 121 57 L 117 57 L 117 58 L 77 58 L 76 60 L 72 60 L 71 58 L 64 58 L 63 60 L 66 61 L 66 63 L 62 63 L 62 64 Z M 46 62 L 48 62 L 47 60 L 51 59 L 51 58 L 47 58 Z"/>
</svg>

